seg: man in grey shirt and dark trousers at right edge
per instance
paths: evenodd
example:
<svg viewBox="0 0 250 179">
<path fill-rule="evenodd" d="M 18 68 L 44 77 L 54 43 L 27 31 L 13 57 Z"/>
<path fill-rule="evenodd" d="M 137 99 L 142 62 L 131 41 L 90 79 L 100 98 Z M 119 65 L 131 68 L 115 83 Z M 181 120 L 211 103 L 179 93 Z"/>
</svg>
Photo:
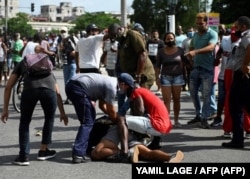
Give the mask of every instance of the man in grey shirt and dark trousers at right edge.
<svg viewBox="0 0 250 179">
<path fill-rule="evenodd" d="M 239 17 L 235 22 L 235 35 L 241 38 L 235 51 L 233 81 L 229 94 L 233 136 L 225 148 L 244 148 L 244 112 L 250 114 L 250 18 Z"/>
</svg>

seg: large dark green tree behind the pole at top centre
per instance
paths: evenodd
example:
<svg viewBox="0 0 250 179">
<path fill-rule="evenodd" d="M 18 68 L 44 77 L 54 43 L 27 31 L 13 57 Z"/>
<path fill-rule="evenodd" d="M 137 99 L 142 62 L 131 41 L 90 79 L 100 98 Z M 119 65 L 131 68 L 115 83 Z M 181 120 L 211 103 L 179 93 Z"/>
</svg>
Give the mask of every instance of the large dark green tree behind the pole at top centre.
<svg viewBox="0 0 250 179">
<path fill-rule="evenodd" d="M 160 34 L 166 32 L 167 15 L 174 13 L 176 25 L 183 29 L 194 26 L 195 15 L 199 11 L 200 0 L 179 0 L 175 6 L 169 0 L 134 0 L 134 14 L 130 16 L 131 23 L 140 23 L 146 32 L 158 29 Z"/>
</svg>

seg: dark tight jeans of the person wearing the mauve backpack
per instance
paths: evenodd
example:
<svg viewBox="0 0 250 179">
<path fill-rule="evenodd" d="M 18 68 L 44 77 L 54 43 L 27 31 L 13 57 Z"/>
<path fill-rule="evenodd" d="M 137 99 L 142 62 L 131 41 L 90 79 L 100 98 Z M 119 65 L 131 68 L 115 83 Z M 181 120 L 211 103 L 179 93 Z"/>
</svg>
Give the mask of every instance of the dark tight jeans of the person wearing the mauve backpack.
<svg viewBox="0 0 250 179">
<path fill-rule="evenodd" d="M 30 152 L 29 125 L 37 102 L 40 101 L 44 111 L 45 122 L 43 125 L 42 144 L 50 144 L 57 108 L 56 92 L 48 88 L 32 88 L 22 92 L 21 117 L 19 124 L 20 156 L 27 156 Z"/>
</svg>

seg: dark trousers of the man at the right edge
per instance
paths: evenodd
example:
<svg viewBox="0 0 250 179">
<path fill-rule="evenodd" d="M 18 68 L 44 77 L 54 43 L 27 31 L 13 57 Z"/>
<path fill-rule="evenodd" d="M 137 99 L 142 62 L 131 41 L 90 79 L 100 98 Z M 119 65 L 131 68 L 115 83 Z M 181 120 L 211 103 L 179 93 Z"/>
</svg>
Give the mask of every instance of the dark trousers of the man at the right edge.
<svg viewBox="0 0 250 179">
<path fill-rule="evenodd" d="M 229 94 L 229 110 L 233 122 L 234 144 L 244 142 L 244 117 L 243 110 L 250 114 L 250 79 L 246 78 L 241 71 L 235 71 Z"/>
</svg>

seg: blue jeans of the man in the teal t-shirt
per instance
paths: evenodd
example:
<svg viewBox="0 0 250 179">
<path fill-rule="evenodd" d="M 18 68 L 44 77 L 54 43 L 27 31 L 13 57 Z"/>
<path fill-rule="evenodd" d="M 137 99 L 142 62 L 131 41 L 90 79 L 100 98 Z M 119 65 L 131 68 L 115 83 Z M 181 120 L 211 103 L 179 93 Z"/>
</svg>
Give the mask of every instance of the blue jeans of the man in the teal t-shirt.
<svg viewBox="0 0 250 179">
<path fill-rule="evenodd" d="M 190 73 L 190 95 L 195 107 L 196 115 L 207 119 L 211 112 L 211 96 L 213 95 L 213 70 L 209 71 L 202 67 L 195 67 Z M 201 89 L 203 105 L 199 96 Z"/>
</svg>

